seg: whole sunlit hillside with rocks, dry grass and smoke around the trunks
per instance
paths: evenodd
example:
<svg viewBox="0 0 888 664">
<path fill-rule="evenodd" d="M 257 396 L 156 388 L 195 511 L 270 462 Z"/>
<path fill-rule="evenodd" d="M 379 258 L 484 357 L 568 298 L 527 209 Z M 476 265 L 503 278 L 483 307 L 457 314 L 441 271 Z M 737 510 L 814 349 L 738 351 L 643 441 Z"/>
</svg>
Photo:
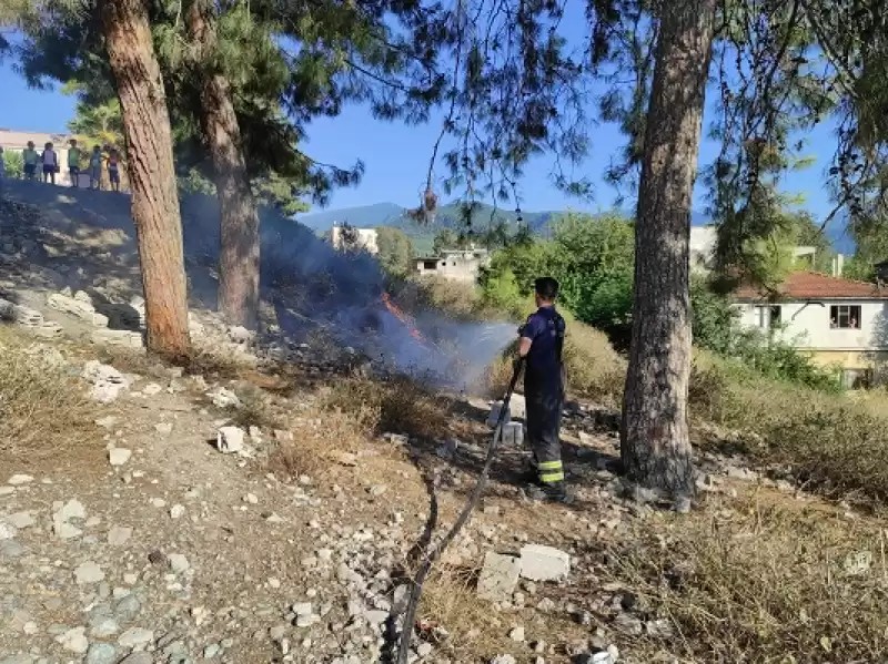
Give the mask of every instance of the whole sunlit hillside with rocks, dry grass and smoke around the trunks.
<svg viewBox="0 0 888 664">
<path fill-rule="evenodd" d="M 698 493 L 677 503 L 619 474 L 625 359 L 572 323 L 575 504 L 523 498 L 531 451 L 511 428 L 405 624 L 423 553 L 485 467 L 514 325 L 445 308 L 472 305 L 452 284 L 412 285 L 393 297 L 420 341 L 374 262 L 266 211 L 263 331 L 230 328 L 212 310 L 219 211 L 195 196 L 196 351 L 168 366 L 141 348 L 129 198 L 10 185 L 0 664 L 377 664 L 402 636 L 414 664 L 884 660 L 882 395 L 698 355 Z"/>
</svg>

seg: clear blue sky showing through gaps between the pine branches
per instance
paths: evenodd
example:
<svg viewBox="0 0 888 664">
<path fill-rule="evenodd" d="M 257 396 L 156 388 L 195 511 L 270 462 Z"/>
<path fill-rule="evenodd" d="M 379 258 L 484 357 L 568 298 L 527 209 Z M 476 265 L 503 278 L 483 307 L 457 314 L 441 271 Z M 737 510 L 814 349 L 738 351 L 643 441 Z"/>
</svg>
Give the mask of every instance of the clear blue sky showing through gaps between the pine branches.
<svg viewBox="0 0 888 664">
<path fill-rule="evenodd" d="M 44 132 L 63 132 L 73 115 L 74 100 L 58 91 L 29 90 L 9 61 L 0 63 L 0 127 Z M 710 114 L 707 114 L 710 115 Z M 705 120 L 708 122 L 708 119 Z M 354 188 L 336 191 L 330 208 L 352 207 L 373 203 L 392 202 L 403 206 L 415 206 L 424 188 L 432 146 L 437 136 L 438 123 L 407 127 L 397 123 L 385 123 L 371 118 L 366 109 L 352 106 L 339 118 L 316 120 L 309 130 L 310 143 L 305 150 L 314 159 L 349 166 L 357 159 L 366 165 L 362 183 Z M 790 174 L 786 190 L 804 193 L 805 207 L 823 217 L 830 210 L 826 190 L 825 168 L 834 150 L 831 129 L 825 123 L 808 137 L 808 154 L 817 157 L 810 168 Z M 592 203 L 565 197 L 549 182 L 552 161 L 539 157 L 525 171 L 522 188 L 522 207 L 527 211 L 606 210 L 613 204 L 615 192 L 602 176 L 612 156 L 623 144 L 623 136 L 613 125 L 599 125 L 592 131 L 591 159 L 582 165 L 581 173 L 589 176 L 596 185 Z M 717 145 L 704 142 L 700 164 L 715 156 Z M 443 174 L 443 170 L 440 171 Z M 703 192 L 697 191 L 696 207 L 702 210 Z"/>
</svg>

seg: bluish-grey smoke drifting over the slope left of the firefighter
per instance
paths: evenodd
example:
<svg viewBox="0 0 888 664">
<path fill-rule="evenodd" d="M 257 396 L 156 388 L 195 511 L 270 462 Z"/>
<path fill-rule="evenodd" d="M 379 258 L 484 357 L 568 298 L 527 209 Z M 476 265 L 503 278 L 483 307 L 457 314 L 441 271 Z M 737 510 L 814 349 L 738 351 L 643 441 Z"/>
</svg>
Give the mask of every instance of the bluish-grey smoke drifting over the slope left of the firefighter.
<svg viewBox="0 0 888 664">
<path fill-rule="evenodd" d="M 216 211 L 213 198 L 183 202 L 185 254 L 192 263 L 218 256 Z M 306 340 L 321 330 L 393 371 L 471 389 L 515 338 L 511 324 L 460 321 L 435 310 L 413 313 L 405 323 L 383 302 L 386 277 L 374 257 L 337 252 L 270 210 L 261 212 L 260 231 L 263 300 L 273 305 L 289 339 Z M 201 282 L 199 274 L 191 278 L 192 296 L 214 307 L 216 284 Z"/>
</svg>

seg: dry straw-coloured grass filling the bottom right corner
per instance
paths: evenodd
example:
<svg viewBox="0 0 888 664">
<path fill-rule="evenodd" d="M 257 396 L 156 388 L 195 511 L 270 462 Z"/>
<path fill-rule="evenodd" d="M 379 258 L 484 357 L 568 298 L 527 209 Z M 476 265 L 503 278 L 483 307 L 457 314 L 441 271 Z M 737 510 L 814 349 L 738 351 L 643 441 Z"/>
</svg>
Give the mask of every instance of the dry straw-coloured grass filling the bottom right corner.
<svg viewBox="0 0 888 664">
<path fill-rule="evenodd" d="M 700 663 L 881 661 L 888 542 L 878 524 L 773 496 L 731 507 L 679 517 L 607 551 L 608 580 L 675 627 L 666 639 L 632 640 L 633 652 Z M 857 554 L 871 566 L 852 574 L 846 561 Z"/>
</svg>

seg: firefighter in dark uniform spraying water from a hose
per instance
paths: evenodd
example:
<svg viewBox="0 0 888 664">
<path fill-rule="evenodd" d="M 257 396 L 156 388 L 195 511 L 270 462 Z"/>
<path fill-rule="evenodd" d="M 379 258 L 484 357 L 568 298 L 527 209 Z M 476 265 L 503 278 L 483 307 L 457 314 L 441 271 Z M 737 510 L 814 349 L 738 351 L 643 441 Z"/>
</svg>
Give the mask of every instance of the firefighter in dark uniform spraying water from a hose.
<svg viewBox="0 0 888 664">
<path fill-rule="evenodd" d="M 524 492 L 532 500 L 572 502 L 564 482 L 559 440 L 564 405 L 562 350 L 566 324 L 555 309 L 558 282 L 534 282 L 538 307 L 518 329 L 518 360 L 526 360 L 524 397 L 527 403 L 527 439 L 534 451 L 535 481 Z"/>
</svg>

